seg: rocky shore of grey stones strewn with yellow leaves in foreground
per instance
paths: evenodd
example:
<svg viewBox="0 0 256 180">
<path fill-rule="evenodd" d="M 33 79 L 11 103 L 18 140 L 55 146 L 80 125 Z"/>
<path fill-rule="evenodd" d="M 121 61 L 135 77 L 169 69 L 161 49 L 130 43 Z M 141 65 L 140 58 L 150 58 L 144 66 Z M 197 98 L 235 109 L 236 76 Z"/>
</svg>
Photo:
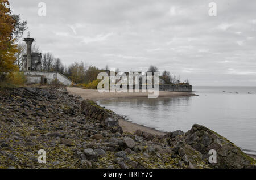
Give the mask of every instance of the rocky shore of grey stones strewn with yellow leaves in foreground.
<svg viewBox="0 0 256 180">
<path fill-rule="evenodd" d="M 232 142 L 200 125 L 187 133 L 123 132 L 119 117 L 66 89 L 0 95 L 0 168 L 255 168 Z M 46 151 L 46 164 L 38 151 Z M 217 163 L 208 162 L 209 150 Z"/>
</svg>

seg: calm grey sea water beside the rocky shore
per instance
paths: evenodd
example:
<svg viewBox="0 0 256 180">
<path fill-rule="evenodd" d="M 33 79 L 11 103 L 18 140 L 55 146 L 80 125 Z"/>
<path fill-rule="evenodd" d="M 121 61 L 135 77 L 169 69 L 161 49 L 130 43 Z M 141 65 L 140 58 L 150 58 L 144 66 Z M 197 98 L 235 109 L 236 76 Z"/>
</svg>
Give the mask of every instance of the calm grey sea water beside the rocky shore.
<svg viewBox="0 0 256 180">
<path fill-rule="evenodd" d="M 199 96 L 123 98 L 98 103 L 128 121 L 160 131 L 187 132 L 195 123 L 256 154 L 256 87 L 193 87 Z M 252 94 L 248 94 L 248 92 Z"/>
</svg>

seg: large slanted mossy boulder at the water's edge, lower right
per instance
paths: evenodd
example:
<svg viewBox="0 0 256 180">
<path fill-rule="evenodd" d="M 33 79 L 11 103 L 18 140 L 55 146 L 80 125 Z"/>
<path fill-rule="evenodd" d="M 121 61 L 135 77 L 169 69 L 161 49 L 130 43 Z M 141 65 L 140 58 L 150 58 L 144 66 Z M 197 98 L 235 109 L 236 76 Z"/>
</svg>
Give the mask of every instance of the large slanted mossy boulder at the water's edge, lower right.
<svg viewBox="0 0 256 180">
<path fill-rule="evenodd" d="M 256 161 L 241 151 L 236 145 L 230 142 L 228 139 L 222 137 L 216 132 L 209 130 L 201 125 L 193 125 L 183 136 L 176 137 L 176 144 L 183 142 L 184 145 L 180 145 L 186 153 L 189 148 L 189 152 L 192 155 L 192 149 L 195 152 L 201 154 L 201 159 L 208 163 L 212 168 L 255 168 Z M 217 152 L 217 162 L 209 163 L 210 150 Z M 188 157 L 189 159 L 189 157 Z"/>
</svg>

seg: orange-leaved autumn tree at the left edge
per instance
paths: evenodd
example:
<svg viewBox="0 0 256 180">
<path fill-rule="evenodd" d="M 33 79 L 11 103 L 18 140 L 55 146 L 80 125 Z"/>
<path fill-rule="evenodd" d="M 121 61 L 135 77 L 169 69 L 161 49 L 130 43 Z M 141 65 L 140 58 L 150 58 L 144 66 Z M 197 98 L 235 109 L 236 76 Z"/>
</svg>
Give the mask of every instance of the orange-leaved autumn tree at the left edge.
<svg viewBox="0 0 256 180">
<path fill-rule="evenodd" d="M 18 70 L 15 65 L 14 54 L 16 49 L 15 20 L 11 16 L 10 4 L 7 0 L 0 0 L 0 79 L 3 80 L 7 75 L 13 74 Z"/>
</svg>

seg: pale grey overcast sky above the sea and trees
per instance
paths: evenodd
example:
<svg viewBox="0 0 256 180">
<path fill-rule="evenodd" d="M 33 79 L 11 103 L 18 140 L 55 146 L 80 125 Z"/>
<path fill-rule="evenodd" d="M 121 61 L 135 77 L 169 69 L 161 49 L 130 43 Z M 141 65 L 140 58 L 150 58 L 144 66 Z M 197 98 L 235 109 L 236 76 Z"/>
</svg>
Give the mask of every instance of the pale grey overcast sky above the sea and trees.
<svg viewBox="0 0 256 180">
<path fill-rule="evenodd" d="M 155 65 L 192 85 L 256 85 L 254 0 L 9 1 L 40 50 L 66 65 L 121 71 Z M 39 2 L 46 16 L 38 15 Z M 217 16 L 208 15 L 210 2 Z"/>
</svg>

